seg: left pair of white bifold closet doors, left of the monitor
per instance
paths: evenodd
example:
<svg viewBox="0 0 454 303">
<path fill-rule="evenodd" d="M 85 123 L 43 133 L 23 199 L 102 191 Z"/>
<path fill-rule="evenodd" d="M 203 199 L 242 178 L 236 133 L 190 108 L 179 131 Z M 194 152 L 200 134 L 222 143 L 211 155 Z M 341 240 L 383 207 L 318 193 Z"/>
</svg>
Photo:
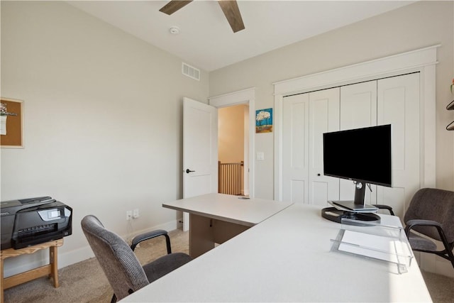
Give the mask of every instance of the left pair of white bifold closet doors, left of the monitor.
<svg viewBox="0 0 454 303">
<path fill-rule="evenodd" d="M 282 117 L 282 199 L 338 200 L 339 180 L 323 175 L 323 133 L 339 129 L 339 89 L 285 97 Z"/>
</svg>

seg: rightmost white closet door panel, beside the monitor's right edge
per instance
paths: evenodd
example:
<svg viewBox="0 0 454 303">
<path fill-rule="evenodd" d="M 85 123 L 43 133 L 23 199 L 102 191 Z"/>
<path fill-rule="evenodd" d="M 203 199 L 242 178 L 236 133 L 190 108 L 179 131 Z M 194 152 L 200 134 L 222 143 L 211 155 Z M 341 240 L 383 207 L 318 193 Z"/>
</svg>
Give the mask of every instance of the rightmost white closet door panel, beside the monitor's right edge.
<svg viewBox="0 0 454 303">
<path fill-rule="evenodd" d="M 380 79 L 377 122 L 392 124 L 392 188 L 378 187 L 379 204 L 393 207 L 403 218 L 420 183 L 419 73 Z"/>
</svg>

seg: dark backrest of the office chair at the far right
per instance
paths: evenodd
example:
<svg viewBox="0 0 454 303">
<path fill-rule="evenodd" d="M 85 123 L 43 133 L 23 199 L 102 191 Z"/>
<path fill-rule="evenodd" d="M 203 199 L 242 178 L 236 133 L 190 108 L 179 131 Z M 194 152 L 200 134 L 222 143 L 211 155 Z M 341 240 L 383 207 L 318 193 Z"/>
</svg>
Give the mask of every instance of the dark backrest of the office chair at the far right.
<svg viewBox="0 0 454 303">
<path fill-rule="evenodd" d="M 444 189 L 419 189 L 411 199 L 404 221 L 432 220 L 441 224 L 448 243 L 454 242 L 454 192 Z M 414 230 L 441 241 L 436 228 L 415 226 Z"/>
</svg>

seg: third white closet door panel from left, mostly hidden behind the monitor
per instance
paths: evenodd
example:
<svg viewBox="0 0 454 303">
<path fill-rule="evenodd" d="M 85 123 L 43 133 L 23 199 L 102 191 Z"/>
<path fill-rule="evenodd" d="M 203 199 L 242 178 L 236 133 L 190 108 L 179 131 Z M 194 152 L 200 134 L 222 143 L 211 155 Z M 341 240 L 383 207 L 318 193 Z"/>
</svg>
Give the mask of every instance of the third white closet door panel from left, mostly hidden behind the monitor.
<svg viewBox="0 0 454 303">
<path fill-rule="evenodd" d="M 377 125 L 377 81 L 362 82 L 341 87 L 341 131 Z M 358 153 L 369 153 L 369 146 L 364 146 Z M 373 160 L 373 159 L 371 159 Z M 352 163 L 367 165 L 367 163 Z M 372 192 L 366 189 L 365 203 L 376 204 L 377 187 L 371 185 Z M 340 181 L 340 199 L 353 200 L 355 185 L 353 181 Z"/>
</svg>

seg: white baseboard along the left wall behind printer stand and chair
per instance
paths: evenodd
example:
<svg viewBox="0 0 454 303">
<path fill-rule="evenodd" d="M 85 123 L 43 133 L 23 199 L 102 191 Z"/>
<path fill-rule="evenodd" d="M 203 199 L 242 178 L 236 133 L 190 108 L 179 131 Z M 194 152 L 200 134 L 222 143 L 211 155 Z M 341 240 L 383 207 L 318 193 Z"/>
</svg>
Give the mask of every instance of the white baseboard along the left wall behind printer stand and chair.
<svg viewBox="0 0 454 303">
<path fill-rule="evenodd" d="M 179 221 L 182 221 L 182 218 L 176 219 L 175 221 L 170 221 L 165 224 L 160 224 L 150 228 L 145 228 L 141 231 L 134 231 L 131 234 L 122 236 L 123 239 L 133 238 L 135 235 L 140 233 L 145 233 L 147 231 L 154 231 L 156 229 L 164 229 L 166 231 L 173 231 L 182 226 Z M 65 241 L 71 241 L 71 238 L 68 238 Z M 65 244 L 63 244 L 65 245 Z M 82 262 L 89 258 L 93 258 L 94 253 L 92 248 L 89 245 L 77 248 L 65 253 L 58 253 L 58 268 L 65 268 L 68 265 Z M 7 258 L 4 262 L 4 277 L 11 277 L 21 272 L 26 272 L 27 270 L 33 270 L 40 266 L 46 265 L 49 263 L 49 253 L 48 250 L 40 250 L 31 255 L 19 255 L 15 258 Z"/>
</svg>

